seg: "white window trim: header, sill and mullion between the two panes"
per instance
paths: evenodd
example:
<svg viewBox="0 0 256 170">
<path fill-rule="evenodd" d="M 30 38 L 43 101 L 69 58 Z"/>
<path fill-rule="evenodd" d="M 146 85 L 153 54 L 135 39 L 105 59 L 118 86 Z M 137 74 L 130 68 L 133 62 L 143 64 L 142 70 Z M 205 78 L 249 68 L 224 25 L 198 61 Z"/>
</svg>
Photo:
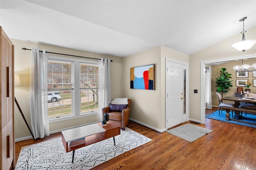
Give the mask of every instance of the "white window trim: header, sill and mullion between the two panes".
<svg viewBox="0 0 256 170">
<path fill-rule="evenodd" d="M 72 115 L 62 116 L 62 117 L 54 117 L 48 118 L 49 123 L 77 119 L 81 117 L 87 117 L 92 115 L 98 115 L 99 111 L 89 112 L 89 113 L 81 113 L 81 96 L 80 96 L 80 63 L 86 64 L 96 64 L 98 65 L 98 61 L 90 61 L 84 59 L 76 59 L 76 58 L 68 58 L 68 57 L 57 57 L 57 56 L 48 56 L 48 60 L 55 61 L 69 61 L 72 63 L 72 70 L 74 70 L 74 74 L 72 74 L 72 82 L 74 82 L 74 92 L 72 93 Z"/>
</svg>

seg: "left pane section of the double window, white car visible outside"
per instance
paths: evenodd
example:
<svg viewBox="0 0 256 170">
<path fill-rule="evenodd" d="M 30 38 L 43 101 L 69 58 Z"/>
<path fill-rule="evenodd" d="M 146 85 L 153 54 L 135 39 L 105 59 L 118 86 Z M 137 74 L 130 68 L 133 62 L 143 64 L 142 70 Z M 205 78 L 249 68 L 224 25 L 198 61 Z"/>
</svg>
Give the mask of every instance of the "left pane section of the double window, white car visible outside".
<svg viewBox="0 0 256 170">
<path fill-rule="evenodd" d="M 72 115 L 72 62 L 48 61 L 48 117 Z M 65 90 L 68 89 L 68 90 Z M 50 95 L 49 95 L 50 94 Z"/>
</svg>

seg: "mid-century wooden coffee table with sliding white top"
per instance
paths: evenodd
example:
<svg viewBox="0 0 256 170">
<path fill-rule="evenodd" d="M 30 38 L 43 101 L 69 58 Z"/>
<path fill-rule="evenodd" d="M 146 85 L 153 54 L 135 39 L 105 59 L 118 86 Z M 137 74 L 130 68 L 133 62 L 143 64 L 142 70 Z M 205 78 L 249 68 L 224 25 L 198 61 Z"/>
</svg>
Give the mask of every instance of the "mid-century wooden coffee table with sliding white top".
<svg viewBox="0 0 256 170">
<path fill-rule="evenodd" d="M 116 146 L 115 136 L 120 135 L 121 122 L 109 121 L 109 124 L 102 127 L 101 123 L 77 127 L 61 132 L 61 140 L 66 152 L 73 151 L 72 163 L 74 162 L 75 150 L 113 137 Z M 68 142 L 85 137 L 85 143 L 70 147 Z"/>
</svg>

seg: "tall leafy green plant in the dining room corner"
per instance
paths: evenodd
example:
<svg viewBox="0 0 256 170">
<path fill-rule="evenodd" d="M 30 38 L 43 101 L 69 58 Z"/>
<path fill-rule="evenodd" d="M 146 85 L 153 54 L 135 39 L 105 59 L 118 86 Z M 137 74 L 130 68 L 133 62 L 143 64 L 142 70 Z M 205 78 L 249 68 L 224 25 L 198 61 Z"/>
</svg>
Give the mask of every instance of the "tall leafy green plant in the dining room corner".
<svg viewBox="0 0 256 170">
<path fill-rule="evenodd" d="M 227 71 L 226 68 L 221 68 L 220 70 L 220 77 L 219 78 L 216 78 L 216 87 L 217 87 L 217 90 L 216 92 L 219 92 L 221 93 L 221 96 L 223 96 L 223 93 L 227 93 L 228 90 L 230 90 L 229 88 L 230 87 L 233 87 L 232 85 L 232 81 L 233 80 L 229 80 L 231 76 L 231 74 L 229 74 Z"/>
</svg>

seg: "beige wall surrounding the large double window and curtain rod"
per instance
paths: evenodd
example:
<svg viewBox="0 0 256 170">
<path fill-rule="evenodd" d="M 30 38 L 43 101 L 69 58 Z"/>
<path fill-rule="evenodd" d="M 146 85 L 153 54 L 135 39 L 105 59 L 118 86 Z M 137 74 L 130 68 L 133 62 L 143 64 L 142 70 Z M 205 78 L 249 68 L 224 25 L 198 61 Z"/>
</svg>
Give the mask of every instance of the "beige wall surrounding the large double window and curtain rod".
<svg viewBox="0 0 256 170">
<path fill-rule="evenodd" d="M 40 50 L 46 49 L 46 51 L 55 53 L 64 53 L 70 55 L 78 55 L 84 57 L 92 58 L 109 58 L 112 59 L 111 63 L 111 95 L 112 98 L 122 97 L 122 60 L 121 57 L 114 57 L 110 55 L 102 55 L 98 53 L 91 53 L 86 51 L 79 51 L 74 49 L 67 49 L 62 47 L 56 47 L 52 45 L 38 44 L 28 41 L 22 41 L 17 39 L 11 39 L 14 44 L 14 72 L 18 73 L 20 76 L 21 86 L 15 86 L 15 97 L 24 113 L 26 120 L 30 126 L 30 107 L 29 107 L 29 84 L 30 84 L 30 58 L 31 51 L 22 50 L 23 47 L 31 49 L 36 47 Z M 52 54 L 50 54 L 52 55 Z M 57 56 L 57 55 L 56 55 Z M 58 55 L 61 56 L 61 55 Z M 62 55 L 62 57 L 65 57 Z M 78 57 L 77 57 L 78 58 Z M 79 58 L 82 59 L 82 58 Z M 88 60 L 88 59 L 87 59 Z M 95 61 L 95 60 L 94 60 Z M 70 121 L 60 121 L 55 123 L 50 123 L 50 131 L 58 131 L 59 129 L 64 129 L 68 127 L 73 127 L 77 125 L 83 125 L 86 123 L 91 123 L 98 121 L 98 116 L 89 116 L 79 119 L 72 119 Z M 22 116 L 15 105 L 15 139 L 20 139 L 24 137 L 31 136 L 26 123 L 22 119 Z"/>
</svg>

